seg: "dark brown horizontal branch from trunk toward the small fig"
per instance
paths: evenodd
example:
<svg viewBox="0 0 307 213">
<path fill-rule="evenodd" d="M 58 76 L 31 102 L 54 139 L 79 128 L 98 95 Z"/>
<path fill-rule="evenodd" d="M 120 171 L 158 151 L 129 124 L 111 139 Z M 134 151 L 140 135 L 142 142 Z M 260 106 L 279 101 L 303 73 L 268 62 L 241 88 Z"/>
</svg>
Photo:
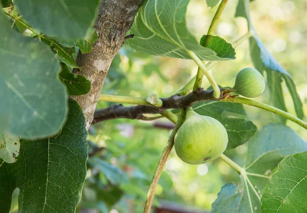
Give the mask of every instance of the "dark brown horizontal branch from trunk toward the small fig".
<svg viewBox="0 0 307 213">
<path fill-rule="evenodd" d="M 190 92 L 185 96 L 178 96 L 178 94 L 175 94 L 174 96 L 171 96 L 169 98 L 161 98 L 163 102 L 162 107 L 144 105 L 124 107 L 121 104 L 112 105 L 107 108 L 96 110 L 92 124 L 97 124 L 99 122 L 110 119 L 120 118 L 146 120 L 146 117 L 143 114 L 163 113 L 166 109 L 185 109 L 191 107 L 193 104 L 196 104 L 198 102 L 208 100 L 219 101 L 223 98 L 224 92 L 222 88 L 220 99 L 215 99 L 213 97 L 213 90 L 204 90 L 203 88 L 199 88 L 196 92 Z"/>
</svg>

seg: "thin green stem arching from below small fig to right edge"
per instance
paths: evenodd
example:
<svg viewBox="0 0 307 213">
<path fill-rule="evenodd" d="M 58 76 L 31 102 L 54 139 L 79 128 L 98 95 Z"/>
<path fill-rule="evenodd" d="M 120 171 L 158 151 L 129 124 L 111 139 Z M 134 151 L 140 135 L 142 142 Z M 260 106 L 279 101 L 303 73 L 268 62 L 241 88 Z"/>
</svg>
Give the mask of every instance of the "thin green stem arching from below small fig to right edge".
<svg viewBox="0 0 307 213">
<path fill-rule="evenodd" d="M 236 97 L 234 99 L 226 99 L 226 100 L 221 100 L 221 101 L 224 101 L 224 102 L 233 102 L 233 103 L 239 103 L 239 104 L 246 104 L 246 105 L 250 105 L 250 106 L 254 106 L 254 107 L 258 107 L 260 109 L 264 109 L 264 110 L 267 110 L 267 111 L 270 111 L 270 112 L 273 112 L 275 114 L 278 114 L 280 116 L 283 116 L 285 117 L 286 119 L 298 124 L 299 126 L 303 127 L 304 129 L 307 130 L 307 123 L 305 123 L 304 121 L 300 120 L 298 117 L 288 113 L 288 112 L 285 112 L 281 109 L 277 109 L 271 105 L 268 105 L 268 104 L 264 104 L 264 103 L 261 103 L 261 102 L 258 102 L 258 101 L 254 101 L 254 100 L 251 100 L 251 99 L 247 99 L 247 98 L 242 98 L 242 97 Z"/>
</svg>

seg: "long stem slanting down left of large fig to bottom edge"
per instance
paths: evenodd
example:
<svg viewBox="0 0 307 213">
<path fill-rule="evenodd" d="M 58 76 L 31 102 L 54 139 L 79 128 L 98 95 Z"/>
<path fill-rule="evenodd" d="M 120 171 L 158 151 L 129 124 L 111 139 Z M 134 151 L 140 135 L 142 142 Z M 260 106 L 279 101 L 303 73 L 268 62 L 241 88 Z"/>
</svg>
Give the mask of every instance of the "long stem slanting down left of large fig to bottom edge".
<svg viewBox="0 0 307 213">
<path fill-rule="evenodd" d="M 172 113 L 172 112 L 170 112 L 170 113 Z M 174 116 L 176 116 L 176 115 L 173 114 L 173 117 Z M 166 144 L 166 146 L 165 146 L 165 148 L 164 148 L 164 150 L 163 150 L 163 152 L 161 154 L 161 157 L 159 159 L 159 162 L 157 164 L 155 173 L 152 176 L 152 180 L 151 180 L 151 183 L 150 183 L 150 187 L 149 187 L 149 190 L 148 190 L 148 194 L 147 194 L 147 198 L 146 198 L 146 202 L 145 202 L 145 207 L 144 207 L 144 211 L 143 211 L 144 213 L 150 213 L 153 197 L 155 197 L 156 187 L 157 187 L 157 184 L 159 182 L 159 179 L 160 179 L 163 167 L 165 165 L 165 162 L 167 160 L 167 157 L 168 157 L 172 147 L 174 146 L 174 137 L 175 137 L 178 129 L 183 124 L 184 120 L 185 120 L 185 111 L 184 111 L 184 109 L 180 109 L 180 113 L 179 113 L 179 117 L 178 117 L 178 121 L 177 122 L 173 121 L 173 119 L 171 120 L 176 125 L 173 128 L 173 130 L 172 130 L 172 132 L 171 132 L 171 134 L 170 134 L 170 136 L 168 138 L 167 144 Z"/>
</svg>

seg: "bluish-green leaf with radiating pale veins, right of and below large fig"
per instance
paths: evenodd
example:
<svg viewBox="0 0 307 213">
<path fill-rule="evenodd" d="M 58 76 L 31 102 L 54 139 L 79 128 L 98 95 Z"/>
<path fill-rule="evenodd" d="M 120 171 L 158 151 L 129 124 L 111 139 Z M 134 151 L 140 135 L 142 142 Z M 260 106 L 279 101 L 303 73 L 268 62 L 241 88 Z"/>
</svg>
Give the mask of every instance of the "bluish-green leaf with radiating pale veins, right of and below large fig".
<svg viewBox="0 0 307 213">
<path fill-rule="evenodd" d="M 307 143 L 295 131 L 282 124 L 265 126 L 247 144 L 248 152 L 240 186 L 225 185 L 214 202 L 215 208 L 212 206 L 212 212 L 217 212 L 220 209 L 217 207 L 229 203 L 232 203 L 230 208 L 218 212 L 260 212 L 262 191 L 280 160 L 289 154 L 307 150 Z"/>
</svg>

